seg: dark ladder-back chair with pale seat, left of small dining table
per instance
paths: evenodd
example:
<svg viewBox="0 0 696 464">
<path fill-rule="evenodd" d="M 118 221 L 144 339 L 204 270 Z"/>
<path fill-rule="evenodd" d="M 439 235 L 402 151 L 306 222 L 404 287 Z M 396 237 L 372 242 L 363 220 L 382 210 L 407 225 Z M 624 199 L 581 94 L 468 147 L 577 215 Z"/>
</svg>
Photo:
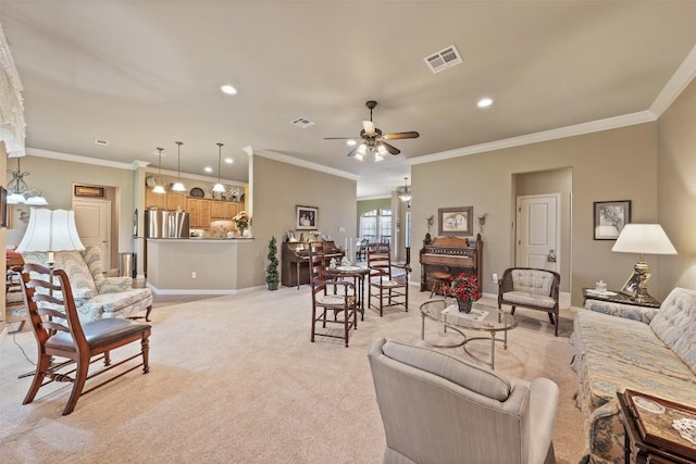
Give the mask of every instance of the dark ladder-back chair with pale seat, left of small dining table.
<svg viewBox="0 0 696 464">
<path fill-rule="evenodd" d="M 358 328 L 356 287 L 344 280 L 327 280 L 324 275 L 325 263 L 324 244 L 322 242 L 311 243 L 309 248 L 309 275 L 312 287 L 311 341 L 314 342 L 315 336 L 341 338 L 348 348 L 348 333 L 351 328 Z M 333 313 L 333 319 L 327 317 L 327 313 Z M 318 323 L 321 323 L 324 329 L 326 324 L 341 325 L 343 335 L 335 335 L 331 330 L 316 331 Z"/>
</svg>

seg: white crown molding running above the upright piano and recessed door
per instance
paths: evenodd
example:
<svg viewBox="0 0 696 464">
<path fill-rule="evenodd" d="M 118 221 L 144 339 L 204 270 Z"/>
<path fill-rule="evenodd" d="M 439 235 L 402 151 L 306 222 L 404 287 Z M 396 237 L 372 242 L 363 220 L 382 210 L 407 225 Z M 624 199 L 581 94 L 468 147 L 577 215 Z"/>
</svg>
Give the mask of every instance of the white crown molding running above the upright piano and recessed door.
<svg viewBox="0 0 696 464">
<path fill-rule="evenodd" d="M 637 113 L 624 114 L 622 116 L 607 117 L 605 120 L 592 121 L 589 123 L 575 124 L 573 126 L 560 127 L 558 129 L 544 130 L 525 136 L 511 137 L 496 140 L 488 143 L 474 145 L 471 147 L 458 148 L 439 153 L 426 154 L 423 156 L 406 160 L 410 165 L 432 163 L 435 161 L 449 160 L 452 158 L 468 156 L 470 154 L 485 153 L 506 148 L 521 147 L 543 141 L 557 140 L 567 137 L 574 137 L 584 134 L 598 133 L 602 130 L 617 129 L 620 127 L 633 126 L 657 121 L 657 116 L 650 111 L 639 111 Z"/>
</svg>

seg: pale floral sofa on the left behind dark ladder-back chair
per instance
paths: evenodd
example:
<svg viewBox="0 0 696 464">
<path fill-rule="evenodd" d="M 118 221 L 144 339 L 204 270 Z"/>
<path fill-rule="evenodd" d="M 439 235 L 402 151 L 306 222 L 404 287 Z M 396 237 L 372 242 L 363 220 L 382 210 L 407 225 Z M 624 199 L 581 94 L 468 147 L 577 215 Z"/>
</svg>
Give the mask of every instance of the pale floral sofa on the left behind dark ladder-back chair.
<svg viewBox="0 0 696 464">
<path fill-rule="evenodd" d="M 22 258 L 25 263 L 46 265 L 48 253 L 30 251 L 22 253 Z M 104 277 L 99 248 L 57 251 L 53 259 L 55 268 L 67 273 L 83 324 L 108 317 L 137 317 L 141 313 L 149 321 L 152 291 L 133 288 L 130 277 Z"/>
</svg>

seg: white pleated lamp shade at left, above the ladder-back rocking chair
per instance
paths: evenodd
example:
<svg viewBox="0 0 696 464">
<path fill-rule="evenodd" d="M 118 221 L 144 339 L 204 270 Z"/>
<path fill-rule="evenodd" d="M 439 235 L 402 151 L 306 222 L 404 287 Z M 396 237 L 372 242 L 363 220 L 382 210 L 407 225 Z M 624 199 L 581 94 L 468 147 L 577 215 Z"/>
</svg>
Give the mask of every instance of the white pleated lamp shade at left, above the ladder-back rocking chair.
<svg viewBox="0 0 696 464">
<path fill-rule="evenodd" d="M 16 251 L 84 250 L 75 226 L 75 212 L 32 208 L 29 224 Z"/>
</svg>

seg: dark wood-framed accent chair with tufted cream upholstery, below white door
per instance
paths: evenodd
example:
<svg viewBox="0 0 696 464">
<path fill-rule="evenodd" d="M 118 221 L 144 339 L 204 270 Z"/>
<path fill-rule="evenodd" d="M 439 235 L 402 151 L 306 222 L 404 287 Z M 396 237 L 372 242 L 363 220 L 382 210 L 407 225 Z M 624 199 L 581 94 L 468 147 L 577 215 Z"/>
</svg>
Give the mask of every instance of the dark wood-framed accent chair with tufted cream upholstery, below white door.
<svg viewBox="0 0 696 464">
<path fill-rule="evenodd" d="M 502 273 L 498 280 L 498 309 L 504 304 L 512 306 L 512 314 L 517 306 L 531 310 L 546 311 L 558 337 L 558 294 L 561 285 L 560 274 L 533 267 L 510 267 Z M 556 317 L 554 317 L 556 316 Z"/>
</svg>

